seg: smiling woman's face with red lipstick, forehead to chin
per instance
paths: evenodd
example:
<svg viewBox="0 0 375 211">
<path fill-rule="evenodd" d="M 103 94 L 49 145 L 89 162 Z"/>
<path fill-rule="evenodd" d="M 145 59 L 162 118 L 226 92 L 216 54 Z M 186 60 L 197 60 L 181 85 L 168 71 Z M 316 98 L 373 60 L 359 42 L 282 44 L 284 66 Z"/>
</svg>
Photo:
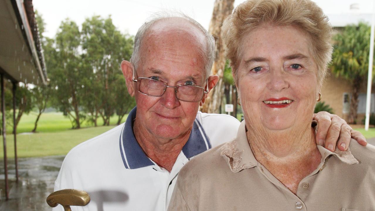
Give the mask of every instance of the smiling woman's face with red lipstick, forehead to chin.
<svg viewBox="0 0 375 211">
<path fill-rule="evenodd" d="M 318 81 L 309 41 L 293 26 L 261 25 L 244 37 L 237 86 L 248 126 L 311 124 Z"/>
</svg>

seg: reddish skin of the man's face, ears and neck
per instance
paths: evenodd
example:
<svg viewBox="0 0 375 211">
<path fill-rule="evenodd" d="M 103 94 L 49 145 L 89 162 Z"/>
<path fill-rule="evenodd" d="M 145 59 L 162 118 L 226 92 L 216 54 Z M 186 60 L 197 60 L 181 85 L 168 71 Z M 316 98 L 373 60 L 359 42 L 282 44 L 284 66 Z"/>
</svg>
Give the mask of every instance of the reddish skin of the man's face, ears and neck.
<svg viewBox="0 0 375 211">
<path fill-rule="evenodd" d="M 157 78 L 169 86 L 193 82 L 192 85 L 213 88 L 217 76 L 205 73 L 201 46 L 207 45 L 205 35 L 182 18 L 155 22 L 145 34 L 141 45 L 141 60 L 136 65 L 135 78 Z M 121 63 L 130 95 L 137 105 L 133 131 L 142 150 L 159 166 L 171 171 L 178 154 L 189 139 L 200 102 L 184 102 L 175 97 L 174 88 L 167 87 L 160 97 L 147 96 L 136 90 L 132 81 L 133 65 Z"/>
</svg>

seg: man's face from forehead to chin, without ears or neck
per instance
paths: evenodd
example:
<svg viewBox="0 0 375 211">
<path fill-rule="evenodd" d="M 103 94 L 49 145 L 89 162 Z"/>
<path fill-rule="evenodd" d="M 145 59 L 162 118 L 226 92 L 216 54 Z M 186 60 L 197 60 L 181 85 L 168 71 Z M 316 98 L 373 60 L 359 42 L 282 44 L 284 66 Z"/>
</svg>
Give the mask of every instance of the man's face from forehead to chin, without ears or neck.
<svg viewBox="0 0 375 211">
<path fill-rule="evenodd" d="M 142 44 L 135 78 L 152 78 L 169 86 L 207 85 L 202 48 L 199 47 L 205 45 L 204 35 L 189 23 L 159 21 Z M 171 87 L 166 88 L 162 96 L 153 97 L 136 91 L 135 83 L 133 86 L 137 105 L 135 133 L 169 140 L 190 132 L 199 102 L 176 99 Z"/>
</svg>

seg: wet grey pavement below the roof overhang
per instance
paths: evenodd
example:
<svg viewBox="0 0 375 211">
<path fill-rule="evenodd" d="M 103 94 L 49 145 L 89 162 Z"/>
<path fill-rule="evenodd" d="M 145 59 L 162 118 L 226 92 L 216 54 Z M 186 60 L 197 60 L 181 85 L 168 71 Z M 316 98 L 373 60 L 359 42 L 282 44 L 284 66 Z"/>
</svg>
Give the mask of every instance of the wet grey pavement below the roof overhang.
<svg viewBox="0 0 375 211">
<path fill-rule="evenodd" d="M 0 160 L 0 211 L 51 211 L 46 203 L 65 156 L 18 159 L 18 184 L 14 159 L 8 160 L 9 200 L 5 200 L 4 161 Z"/>
</svg>

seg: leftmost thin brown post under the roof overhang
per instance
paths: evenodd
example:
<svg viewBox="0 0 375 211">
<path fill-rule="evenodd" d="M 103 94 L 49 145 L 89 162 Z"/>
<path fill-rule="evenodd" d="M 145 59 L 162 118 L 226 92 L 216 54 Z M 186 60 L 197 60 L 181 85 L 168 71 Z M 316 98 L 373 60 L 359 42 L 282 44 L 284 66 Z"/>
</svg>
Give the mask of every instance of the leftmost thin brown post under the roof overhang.
<svg viewBox="0 0 375 211">
<path fill-rule="evenodd" d="M 1 74 L 1 113 L 3 114 L 3 147 L 4 147 L 4 174 L 5 174 L 5 199 L 9 199 L 8 194 L 8 162 L 6 157 L 6 129 L 5 129 L 5 93 L 4 93 L 4 75 Z"/>
</svg>

